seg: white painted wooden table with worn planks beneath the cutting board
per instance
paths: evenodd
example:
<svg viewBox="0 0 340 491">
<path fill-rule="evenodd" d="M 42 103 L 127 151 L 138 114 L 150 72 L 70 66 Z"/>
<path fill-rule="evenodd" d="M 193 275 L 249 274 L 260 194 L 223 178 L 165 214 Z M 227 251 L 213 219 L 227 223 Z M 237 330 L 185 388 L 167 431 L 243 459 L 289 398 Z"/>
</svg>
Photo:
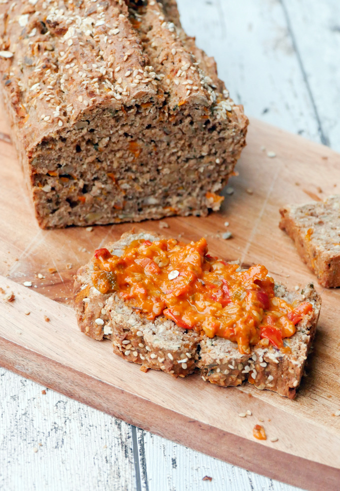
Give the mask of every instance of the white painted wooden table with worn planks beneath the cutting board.
<svg viewBox="0 0 340 491">
<path fill-rule="evenodd" d="M 186 31 L 255 116 L 340 151 L 338 0 L 178 0 Z M 260 142 L 259 142 L 260 144 Z M 3 491 L 292 491 L 0 369 Z M 202 481 L 205 475 L 212 481 Z"/>
</svg>

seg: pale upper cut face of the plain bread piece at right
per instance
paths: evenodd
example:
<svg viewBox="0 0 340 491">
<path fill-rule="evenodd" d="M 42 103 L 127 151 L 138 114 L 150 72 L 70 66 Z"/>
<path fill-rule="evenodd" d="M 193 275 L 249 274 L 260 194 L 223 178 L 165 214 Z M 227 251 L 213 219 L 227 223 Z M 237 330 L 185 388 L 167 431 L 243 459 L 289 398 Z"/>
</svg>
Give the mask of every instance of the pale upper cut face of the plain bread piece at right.
<svg viewBox="0 0 340 491">
<path fill-rule="evenodd" d="M 304 205 L 289 205 L 280 210 L 294 225 L 331 256 L 340 254 L 340 195 L 325 201 Z"/>
</svg>

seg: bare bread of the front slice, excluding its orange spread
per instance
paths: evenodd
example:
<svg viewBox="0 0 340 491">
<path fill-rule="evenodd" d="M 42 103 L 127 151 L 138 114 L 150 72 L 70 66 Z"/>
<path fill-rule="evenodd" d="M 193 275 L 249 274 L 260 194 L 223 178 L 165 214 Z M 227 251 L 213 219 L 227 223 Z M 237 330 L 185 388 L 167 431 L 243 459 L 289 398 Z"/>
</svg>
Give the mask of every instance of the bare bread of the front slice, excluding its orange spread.
<svg viewBox="0 0 340 491">
<path fill-rule="evenodd" d="M 125 233 L 108 251 L 121 256 L 132 240 L 157 240 L 161 237 L 141 231 Z M 273 347 L 253 347 L 249 354 L 241 354 L 237 344 L 215 336 L 210 339 L 193 330 L 178 327 L 171 320 L 159 316 L 154 322 L 136 312 L 118 294 L 101 294 L 92 284 L 93 263 L 79 269 L 74 282 L 74 308 L 82 332 L 94 339 L 108 337 L 113 351 L 127 361 L 184 377 L 195 369 L 204 381 L 230 386 L 248 381 L 258 389 L 269 389 L 282 396 L 295 397 L 300 384 L 308 350 L 318 321 L 321 300 L 313 285 L 300 293 L 288 292 L 282 285 L 275 286 L 275 296 L 289 304 L 308 301 L 312 312 L 304 315 L 296 325 L 297 331 L 284 344 L 290 350 Z"/>
</svg>

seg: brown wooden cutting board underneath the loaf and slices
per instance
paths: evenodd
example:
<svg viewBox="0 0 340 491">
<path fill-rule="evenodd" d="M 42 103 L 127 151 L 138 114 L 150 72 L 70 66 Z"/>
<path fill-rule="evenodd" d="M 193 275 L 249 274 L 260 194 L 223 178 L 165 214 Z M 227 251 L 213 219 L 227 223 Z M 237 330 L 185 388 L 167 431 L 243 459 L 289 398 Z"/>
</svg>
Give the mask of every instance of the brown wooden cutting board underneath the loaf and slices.
<svg viewBox="0 0 340 491">
<path fill-rule="evenodd" d="M 311 490 L 339 489 L 340 417 L 334 413 L 340 409 L 340 292 L 318 287 L 319 327 L 307 376 L 293 401 L 249 385 L 213 386 L 197 374 L 175 380 L 161 372 L 143 373 L 113 355 L 109 341 L 81 334 L 71 308 L 77 268 L 131 225 L 40 230 L 3 118 L 0 131 L 0 287 L 15 294 L 12 303 L 0 300 L 0 365 L 246 469 Z M 340 155 L 256 120 L 247 142 L 236 167 L 239 176 L 229 183 L 234 192 L 225 194 L 222 210 L 206 218 L 168 218 L 169 228 L 161 231 L 183 240 L 204 235 L 213 255 L 263 263 L 292 289 L 316 282 L 278 228 L 278 208 L 337 192 Z M 233 235 L 229 240 L 219 235 L 225 221 Z M 157 221 L 141 226 L 159 231 Z M 33 286 L 24 287 L 24 281 Z M 251 416 L 238 416 L 247 409 Z M 252 437 L 259 422 L 266 441 Z"/>
</svg>

